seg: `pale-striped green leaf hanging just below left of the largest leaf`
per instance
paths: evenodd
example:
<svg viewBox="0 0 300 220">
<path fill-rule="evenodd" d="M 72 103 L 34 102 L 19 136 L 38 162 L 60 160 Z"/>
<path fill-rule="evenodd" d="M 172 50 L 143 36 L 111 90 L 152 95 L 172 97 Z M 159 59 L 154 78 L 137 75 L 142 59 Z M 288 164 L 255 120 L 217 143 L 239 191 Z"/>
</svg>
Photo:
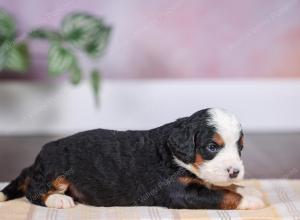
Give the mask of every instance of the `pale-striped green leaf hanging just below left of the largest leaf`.
<svg viewBox="0 0 300 220">
<path fill-rule="evenodd" d="M 71 50 L 60 44 L 52 44 L 48 52 L 48 72 L 51 75 L 60 75 L 68 71 L 76 58 Z"/>
</svg>

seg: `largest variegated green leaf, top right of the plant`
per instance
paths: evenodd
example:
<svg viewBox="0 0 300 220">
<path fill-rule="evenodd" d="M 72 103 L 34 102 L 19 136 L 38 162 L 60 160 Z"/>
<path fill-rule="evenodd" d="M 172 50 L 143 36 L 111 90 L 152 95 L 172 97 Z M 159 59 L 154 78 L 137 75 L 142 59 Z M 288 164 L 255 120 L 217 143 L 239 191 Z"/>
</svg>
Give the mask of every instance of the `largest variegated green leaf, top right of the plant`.
<svg viewBox="0 0 300 220">
<path fill-rule="evenodd" d="M 111 28 L 104 25 L 101 19 L 87 13 L 67 15 L 61 30 L 68 42 L 92 57 L 103 53 L 111 32 Z"/>
</svg>

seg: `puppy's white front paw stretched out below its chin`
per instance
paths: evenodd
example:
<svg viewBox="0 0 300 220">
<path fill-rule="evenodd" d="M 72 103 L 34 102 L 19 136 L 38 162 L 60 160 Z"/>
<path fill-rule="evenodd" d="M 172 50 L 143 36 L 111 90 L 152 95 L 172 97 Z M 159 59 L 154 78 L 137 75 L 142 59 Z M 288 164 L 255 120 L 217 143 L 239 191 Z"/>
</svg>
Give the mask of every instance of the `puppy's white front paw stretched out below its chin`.
<svg viewBox="0 0 300 220">
<path fill-rule="evenodd" d="M 241 187 L 237 189 L 237 192 L 242 196 L 237 209 L 261 209 L 266 206 L 262 193 L 255 188 Z"/>
</svg>

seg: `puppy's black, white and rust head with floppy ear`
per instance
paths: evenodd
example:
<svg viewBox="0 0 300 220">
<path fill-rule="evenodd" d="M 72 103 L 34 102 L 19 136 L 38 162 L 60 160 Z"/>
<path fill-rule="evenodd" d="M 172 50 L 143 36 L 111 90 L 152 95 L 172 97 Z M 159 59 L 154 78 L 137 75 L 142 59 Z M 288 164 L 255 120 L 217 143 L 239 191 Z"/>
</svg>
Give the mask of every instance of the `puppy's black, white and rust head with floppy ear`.
<svg viewBox="0 0 300 220">
<path fill-rule="evenodd" d="M 233 114 L 205 109 L 175 124 L 168 145 L 179 166 L 218 186 L 243 179 L 243 132 Z"/>
</svg>

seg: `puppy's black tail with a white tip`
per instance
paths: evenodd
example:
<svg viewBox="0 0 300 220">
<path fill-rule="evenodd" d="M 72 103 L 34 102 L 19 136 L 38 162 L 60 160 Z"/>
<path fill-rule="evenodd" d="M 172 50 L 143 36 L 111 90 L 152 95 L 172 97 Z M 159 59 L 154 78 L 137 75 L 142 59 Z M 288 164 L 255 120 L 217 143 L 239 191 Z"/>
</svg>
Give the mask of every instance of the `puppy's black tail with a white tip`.
<svg viewBox="0 0 300 220">
<path fill-rule="evenodd" d="M 30 182 L 30 171 L 31 167 L 25 168 L 16 179 L 4 187 L 4 189 L 0 192 L 0 202 L 24 196 Z"/>
</svg>

